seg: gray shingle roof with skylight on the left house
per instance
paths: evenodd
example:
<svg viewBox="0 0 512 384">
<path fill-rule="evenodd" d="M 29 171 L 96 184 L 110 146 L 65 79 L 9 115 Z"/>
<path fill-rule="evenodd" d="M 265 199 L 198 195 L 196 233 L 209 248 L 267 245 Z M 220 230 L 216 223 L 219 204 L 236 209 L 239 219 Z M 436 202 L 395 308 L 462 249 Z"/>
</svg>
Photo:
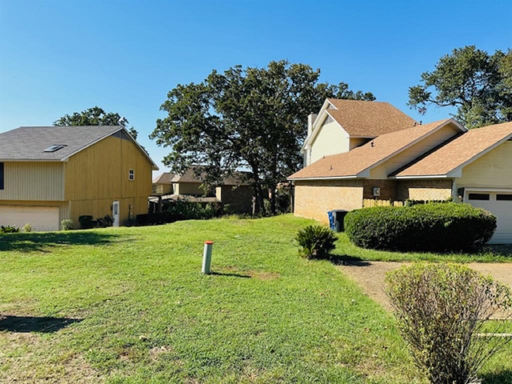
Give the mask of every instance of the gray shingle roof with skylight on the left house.
<svg viewBox="0 0 512 384">
<path fill-rule="evenodd" d="M 0 161 L 61 161 L 122 130 L 120 125 L 20 126 L 0 133 Z M 46 148 L 58 144 L 65 146 L 55 152 L 45 152 Z M 155 162 L 143 153 L 158 169 Z"/>
</svg>

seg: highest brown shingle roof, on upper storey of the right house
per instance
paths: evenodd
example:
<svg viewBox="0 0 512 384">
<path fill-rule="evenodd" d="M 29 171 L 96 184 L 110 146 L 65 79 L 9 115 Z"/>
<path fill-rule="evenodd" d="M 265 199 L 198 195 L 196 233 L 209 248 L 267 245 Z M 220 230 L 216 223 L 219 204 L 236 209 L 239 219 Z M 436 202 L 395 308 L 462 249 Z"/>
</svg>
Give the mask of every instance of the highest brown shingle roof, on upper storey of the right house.
<svg viewBox="0 0 512 384">
<path fill-rule="evenodd" d="M 337 110 L 327 110 L 350 136 L 376 137 L 414 126 L 415 120 L 380 101 L 327 99 Z"/>
</svg>

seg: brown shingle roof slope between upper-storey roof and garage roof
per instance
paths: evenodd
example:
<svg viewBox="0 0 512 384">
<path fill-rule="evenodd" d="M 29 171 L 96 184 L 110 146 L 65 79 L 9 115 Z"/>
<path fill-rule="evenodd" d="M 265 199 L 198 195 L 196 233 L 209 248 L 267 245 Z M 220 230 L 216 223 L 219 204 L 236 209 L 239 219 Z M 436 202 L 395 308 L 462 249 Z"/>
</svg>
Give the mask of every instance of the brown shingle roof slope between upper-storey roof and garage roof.
<svg viewBox="0 0 512 384">
<path fill-rule="evenodd" d="M 291 175 L 289 180 L 309 178 L 355 177 L 365 169 L 398 152 L 409 144 L 433 133 L 440 125 L 453 121 L 439 120 L 376 137 L 371 142 L 338 155 L 326 156 Z M 372 146 L 373 143 L 373 146 Z"/>
</svg>

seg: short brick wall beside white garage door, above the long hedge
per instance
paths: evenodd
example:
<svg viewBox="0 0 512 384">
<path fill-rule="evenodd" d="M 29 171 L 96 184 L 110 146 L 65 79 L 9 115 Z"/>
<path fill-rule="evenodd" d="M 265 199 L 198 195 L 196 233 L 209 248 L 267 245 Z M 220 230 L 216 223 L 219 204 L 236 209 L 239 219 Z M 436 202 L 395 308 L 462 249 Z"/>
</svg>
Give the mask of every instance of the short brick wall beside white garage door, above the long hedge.
<svg viewBox="0 0 512 384">
<path fill-rule="evenodd" d="M 452 179 L 399 180 L 398 200 L 447 200 L 452 196 Z"/>
</svg>

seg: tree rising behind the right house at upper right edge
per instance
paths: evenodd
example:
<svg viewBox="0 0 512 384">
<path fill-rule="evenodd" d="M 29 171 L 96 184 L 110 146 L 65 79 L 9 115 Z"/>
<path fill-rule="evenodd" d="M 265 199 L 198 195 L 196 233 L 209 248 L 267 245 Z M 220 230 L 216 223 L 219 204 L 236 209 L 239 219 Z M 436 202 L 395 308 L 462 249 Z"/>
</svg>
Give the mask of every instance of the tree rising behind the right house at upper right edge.
<svg viewBox="0 0 512 384">
<path fill-rule="evenodd" d="M 430 105 L 455 106 L 454 117 L 468 128 L 512 120 L 511 50 L 454 49 L 421 82 L 409 88 L 409 105 L 421 114 Z"/>
</svg>

